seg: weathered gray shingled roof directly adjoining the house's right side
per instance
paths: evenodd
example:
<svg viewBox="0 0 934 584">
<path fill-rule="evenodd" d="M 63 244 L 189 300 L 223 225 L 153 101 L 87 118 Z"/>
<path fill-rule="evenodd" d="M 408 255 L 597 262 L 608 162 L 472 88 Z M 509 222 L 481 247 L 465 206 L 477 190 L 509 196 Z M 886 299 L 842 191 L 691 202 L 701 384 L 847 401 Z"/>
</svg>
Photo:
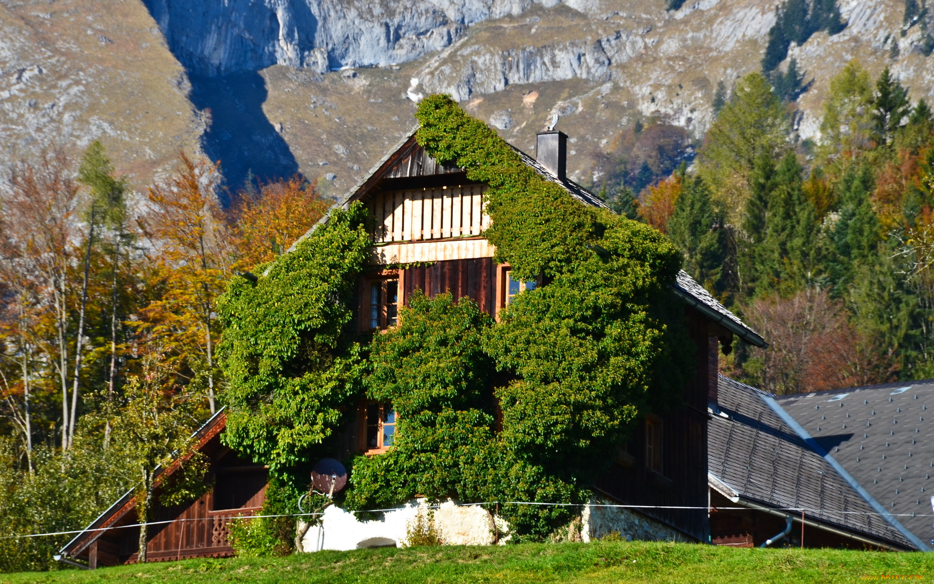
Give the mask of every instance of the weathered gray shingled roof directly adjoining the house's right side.
<svg viewBox="0 0 934 584">
<path fill-rule="evenodd" d="M 709 475 L 750 501 L 803 507 L 810 519 L 915 547 L 783 420 L 774 396 L 722 376 L 718 393 L 721 413 L 708 424 Z"/>
</svg>

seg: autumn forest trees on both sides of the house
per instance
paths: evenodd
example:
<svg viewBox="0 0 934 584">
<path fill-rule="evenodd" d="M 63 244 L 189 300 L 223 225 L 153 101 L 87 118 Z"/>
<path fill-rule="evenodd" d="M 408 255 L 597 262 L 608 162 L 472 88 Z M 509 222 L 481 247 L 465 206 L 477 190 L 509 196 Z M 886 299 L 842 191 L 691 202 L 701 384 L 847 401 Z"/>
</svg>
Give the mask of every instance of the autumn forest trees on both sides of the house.
<svg viewBox="0 0 934 584">
<path fill-rule="evenodd" d="M 794 132 L 793 98 L 761 73 L 721 84 L 695 163 L 610 202 L 666 233 L 771 343 L 740 344 L 730 376 L 780 393 L 934 377 L 930 108 L 854 62 L 814 142 Z M 672 151 L 686 140 L 659 127 L 624 142 L 640 136 Z M 653 149 L 639 156 L 657 171 Z M 302 178 L 229 207 L 218 193 L 217 166 L 184 155 L 131 192 L 96 142 L 0 177 L 0 571 L 53 567 L 68 539 L 8 535 L 80 528 L 134 485 L 146 503 L 152 469 L 224 404 L 215 300 L 328 206 Z"/>
</svg>

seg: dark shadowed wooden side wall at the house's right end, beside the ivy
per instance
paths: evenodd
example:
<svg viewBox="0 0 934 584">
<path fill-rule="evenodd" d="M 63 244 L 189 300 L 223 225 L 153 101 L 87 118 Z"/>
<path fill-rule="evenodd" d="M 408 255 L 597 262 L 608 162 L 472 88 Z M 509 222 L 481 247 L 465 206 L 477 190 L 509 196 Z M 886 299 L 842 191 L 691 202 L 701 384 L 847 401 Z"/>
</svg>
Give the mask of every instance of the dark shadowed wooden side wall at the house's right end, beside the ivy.
<svg viewBox="0 0 934 584">
<path fill-rule="evenodd" d="M 700 507 L 635 510 L 706 542 L 709 539 L 707 398 L 712 378 L 710 368 L 715 366 L 715 360 L 711 359 L 707 320 L 693 309 L 687 312 L 688 329 L 697 347 L 696 369 L 686 387 L 686 405 L 661 416 L 662 477 L 645 466 L 645 429 L 640 423 L 628 445 L 635 463 L 629 467 L 615 463 L 597 482 L 597 487 L 627 505 Z"/>
</svg>

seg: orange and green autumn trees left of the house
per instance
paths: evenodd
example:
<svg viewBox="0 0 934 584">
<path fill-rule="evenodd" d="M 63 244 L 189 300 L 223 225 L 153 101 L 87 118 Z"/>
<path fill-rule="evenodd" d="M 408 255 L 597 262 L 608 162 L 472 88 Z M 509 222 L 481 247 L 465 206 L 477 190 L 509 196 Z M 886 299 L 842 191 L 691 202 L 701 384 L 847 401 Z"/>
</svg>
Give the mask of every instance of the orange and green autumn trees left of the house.
<svg viewBox="0 0 934 584">
<path fill-rule="evenodd" d="M 214 302 L 329 203 L 302 178 L 218 204 L 181 155 L 145 194 L 98 142 L 0 184 L 0 536 L 74 530 L 184 449 L 219 407 Z M 173 492 L 184 498 L 185 485 Z M 151 494 L 151 489 L 149 490 Z M 142 506 L 141 506 L 142 507 Z M 0 571 L 53 567 L 69 536 L 0 538 Z"/>
</svg>

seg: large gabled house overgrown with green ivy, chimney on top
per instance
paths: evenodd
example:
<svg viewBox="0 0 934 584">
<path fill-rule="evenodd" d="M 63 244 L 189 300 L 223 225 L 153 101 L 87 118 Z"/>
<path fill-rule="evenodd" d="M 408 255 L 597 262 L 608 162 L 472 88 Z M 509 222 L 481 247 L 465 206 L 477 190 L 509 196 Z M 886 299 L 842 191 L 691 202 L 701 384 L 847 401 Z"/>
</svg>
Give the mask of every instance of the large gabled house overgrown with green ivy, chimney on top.
<svg viewBox="0 0 934 584">
<path fill-rule="evenodd" d="M 297 468 L 322 456 L 352 467 L 343 500 L 309 530 L 304 548 L 399 543 L 417 500 L 500 502 L 479 515 L 439 509 L 435 520 L 451 542 L 496 540 L 496 509 L 518 539 L 554 537 L 577 521 L 572 538 L 619 531 L 708 541 L 706 437 L 718 346 L 729 352 L 738 336 L 764 347 L 763 339 L 679 269 L 663 235 L 616 216 L 567 177 L 567 135 L 538 134 L 532 157 L 446 96 L 425 100 L 418 118 L 417 131 L 289 254 L 229 294 L 227 354 L 237 363 L 228 369 L 230 396 L 244 412 L 233 443 L 274 472 L 277 463 Z M 328 230 L 345 235 L 326 243 L 335 236 Z M 324 250 L 346 254 L 329 277 L 346 283 L 329 289 L 343 307 L 328 318 L 343 324 L 328 333 L 327 359 L 343 363 L 302 375 L 347 385 L 340 404 L 315 398 L 314 420 L 284 420 L 253 404 L 295 395 L 295 386 L 270 381 L 258 391 L 262 365 L 239 368 L 269 352 L 254 340 L 262 334 L 255 327 L 266 325 L 238 311 L 279 302 L 296 285 L 317 287 L 295 274 L 325 278 L 322 266 L 311 267 Z M 258 292 L 264 283 L 270 288 Z M 292 309 L 307 310 L 323 290 L 290 299 Z M 232 325 L 243 335 L 231 335 Z M 324 330 L 315 326 L 288 334 L 301 343 Z M 365 371 L 348 373 L 358 359 Z M 298 362 L 290 363 L 276 371 Z M 320 423 L 328 412 L 334 422 Z M 315 424 L 320 446 L 282 456 L 297 428 Z M 268 442 L 257 448 L 261 434 Z M 643 507 L 588 506 L 580 516 L 585 507 L 541 505 L 595 498 Z M 395 520 L 394 512 L 369 521 L 347 512 L 393 506 Z M 472 513 L 492 527 L 467 525 Z"/>
</svg>

